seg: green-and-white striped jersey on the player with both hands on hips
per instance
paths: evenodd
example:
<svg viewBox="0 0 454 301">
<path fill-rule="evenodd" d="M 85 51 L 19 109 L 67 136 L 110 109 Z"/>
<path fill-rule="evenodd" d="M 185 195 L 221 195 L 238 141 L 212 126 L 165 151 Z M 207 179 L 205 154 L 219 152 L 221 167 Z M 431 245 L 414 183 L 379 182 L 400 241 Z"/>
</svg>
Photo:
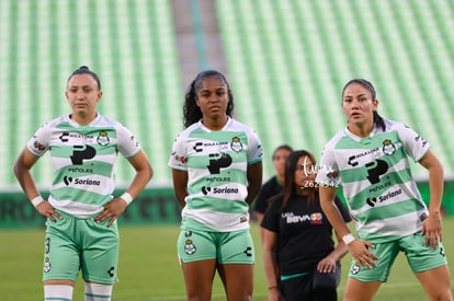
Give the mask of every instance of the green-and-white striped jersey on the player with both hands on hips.
<svg viewBox="0 0 454 301">
<path fill-rule="evenodd" d="M 128 129 L 99 114 L 87 126 L 69 115 L 46 123 L 27 148 L 37 157 L 49 151 L 55 177 L 48 201 L 79 218 L 97 215 L 112 199 L 118 151 L 130 158 L 140 150 Z"/>
</svg>

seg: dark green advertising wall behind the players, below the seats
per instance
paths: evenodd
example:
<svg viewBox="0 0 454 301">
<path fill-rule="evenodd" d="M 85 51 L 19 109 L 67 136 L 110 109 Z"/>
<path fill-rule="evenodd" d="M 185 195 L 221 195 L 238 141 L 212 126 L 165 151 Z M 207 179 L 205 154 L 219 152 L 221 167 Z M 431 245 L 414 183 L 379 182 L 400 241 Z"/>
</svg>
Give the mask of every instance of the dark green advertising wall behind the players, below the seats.
<svg viewBox="0 0 454 301">
<path fill-rule="evenodd" d="M 429 200 L 429 183 L 420 182 L 418 187 L 424 201 Z M 122 192 L 115 192 L 120 195 Z M 47 197 L 43 192 L 43 196 Z M 341 198 L 342 195 L 340 194 Z M 343 198 L 342 198 L 343 200 Z M 442 199 L 444 215 L 454 216 L 454 182 L 446 182 Z M 181 208 L 173 189 L 155 188 L 144 190 L 118 218 L 121 225 L 169 224 L 180 222 Z M 0 193 L 0 230 L 44 227 L 45 218 L 33 208 L 22 193 Z"/>
</svg>

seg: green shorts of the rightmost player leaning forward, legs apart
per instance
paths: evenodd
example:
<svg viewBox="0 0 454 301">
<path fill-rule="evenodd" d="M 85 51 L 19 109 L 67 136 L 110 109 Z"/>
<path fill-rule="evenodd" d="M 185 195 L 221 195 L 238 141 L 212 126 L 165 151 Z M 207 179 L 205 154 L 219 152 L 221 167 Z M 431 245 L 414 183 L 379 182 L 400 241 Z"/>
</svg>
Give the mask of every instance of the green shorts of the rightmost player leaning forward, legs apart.
<svg viewBox="0 0 454 301">
<path fill-rule="evenodd" d="M 425 246 L 424 236 L 420 232 L 396 241 L 376 243 L 370 251 L 378 256 L 377 265 L 373 268 L 359 267 L 353 259 L 349 277 L 364 282 L 386 282 L 394 261 L 400 251 L 405 253 L 407 262 L 415 274 L 447 264 L 443 244 L 440 243 L 439 247 L 434 250 Z"/>
</svg>

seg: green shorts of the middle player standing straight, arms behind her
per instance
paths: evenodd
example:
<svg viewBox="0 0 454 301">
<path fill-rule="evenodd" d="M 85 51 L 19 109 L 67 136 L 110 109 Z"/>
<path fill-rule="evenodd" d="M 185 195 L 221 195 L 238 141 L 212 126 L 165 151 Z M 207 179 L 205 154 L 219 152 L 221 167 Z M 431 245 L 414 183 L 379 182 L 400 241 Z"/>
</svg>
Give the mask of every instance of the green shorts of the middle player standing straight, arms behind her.
<svg viewBox="0 0 454 301">
<path fill-rule="evenodd" d="M 253 241 L 249 229 L 234 232 L 181 230 L 178 256 L 183 263 L 215 258 L 219 264 L 253 264 Z"/>
</svg>

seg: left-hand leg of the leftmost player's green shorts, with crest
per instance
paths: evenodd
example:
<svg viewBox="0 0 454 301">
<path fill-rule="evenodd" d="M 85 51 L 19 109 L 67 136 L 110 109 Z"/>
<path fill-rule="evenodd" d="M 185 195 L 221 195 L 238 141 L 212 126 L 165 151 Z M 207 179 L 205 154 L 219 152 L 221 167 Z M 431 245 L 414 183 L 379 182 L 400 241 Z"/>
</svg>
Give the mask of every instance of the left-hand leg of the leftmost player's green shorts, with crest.
<svg viewBox="0 0 454 301">
<path fill-rule="evenodd" d="M 47 221 L 44 243 L 43 280 L 76 281 L 79 274 L 80 254 L 75 243 L 76 220 L 71 218 Z"/>
</svg>

